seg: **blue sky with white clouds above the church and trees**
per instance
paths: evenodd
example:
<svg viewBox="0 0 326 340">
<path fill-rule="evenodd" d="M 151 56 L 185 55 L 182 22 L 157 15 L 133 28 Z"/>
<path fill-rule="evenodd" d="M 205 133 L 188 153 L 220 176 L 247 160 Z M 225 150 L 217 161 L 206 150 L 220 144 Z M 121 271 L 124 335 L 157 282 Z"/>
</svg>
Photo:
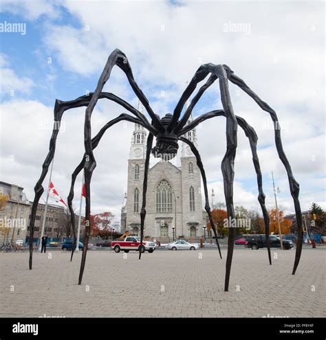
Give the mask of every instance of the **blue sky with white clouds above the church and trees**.
<svg viewBox="0 0 326 340">
<path fill-rule="evenodd" d="M 1 0 L 1 180 L 21 185 L 34 199 L 34 185 L 52 133 L 56 98 L 72 100 L 94 91 L 115 48 L 127 54 L 135 80 L 155 113 L 173 112 L 202 63 L 227 64 L 276 111 L 285 153 L 301 185 L 301 208 L 325 200 L 325 18 L 315 1 L 6 1 Z M 20 23 L 20 32 L 8 24 Z M 7 25 L 5 25 L 7 24 Z M 133 91 L 118 68 L 105 91 L 134 106 Z M 287 174 L 274 144 L 268 113 L 230 85 L 235 114 L 259 136 L 266 204 L 274 207 L 272 175 L 279 204 L 294 212 Z M 213 85 L 193 111 L 196 117 L 221 108 Z M 120 106 L 100 100 L 92 133 Z M 66 111 L 58 135 L 52 181 L 63 199 L 71 173 L 83 155 L 85 108 Z M 221 159 L 226 151 L 224 117 L 197 130 L 209 190 L 224 201 Z M 96 148 L 91 212 L 120 214 L 127 188 L 127 158 L 133 124 L 116 125 Z M 248 140 L 239 127 L 235 161 L 235 204 L 259 207 Z M 153 160 L 151 160 L 153 163 Z M 81 176 L 76 184 L 79 206 Z M 44 185 L 47 186 L 48 178 Z"/>
</svg>

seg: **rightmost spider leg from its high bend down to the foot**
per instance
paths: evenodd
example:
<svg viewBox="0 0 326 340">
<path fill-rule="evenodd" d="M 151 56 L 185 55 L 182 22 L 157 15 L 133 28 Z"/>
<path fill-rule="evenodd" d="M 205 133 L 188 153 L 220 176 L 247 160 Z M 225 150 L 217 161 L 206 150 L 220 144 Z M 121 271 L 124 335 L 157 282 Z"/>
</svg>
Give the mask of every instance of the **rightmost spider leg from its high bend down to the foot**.
<svg viewBox="0 0 326 340">
<path fill-rule="evenodd" d="M 228 79 L 233 84 L 236 84 L 240 89 L 242 89 L 244 92 L 246 92 L 257 104 L 261 107 L 263 111 L 266 111 L 270 113 L 270 117 L 272 118 L 272 121 L 274 122 L 274 135 L 275 135 L 275 144 L 276 144 L 276 150 L 279 154 L 279 159 L 281 159 L 285 170 L 287 172 L 287 178 L 289 179 L 289 185 L 290 185 L 290 192 L 292 199 L 294 201 L 294 209 L 296 212 L 296 222 L 298 224 L 298 244 L 296 246 L 296 256 L 294 259 L 294 266 L 292 270 L 292 275 L 296 273 L 296 268 L 298 267 L 298 263 L 300 262 L 301 258 L 301 251 L 302 251 L 302 241 L 303 241 L 303 223 L 302 223 L 302 216 L 301 216 L 301 207 L 300 207 L 300 201 L 298 200 L 298 194 L 300 191 L 300 186 L 298 182 L 294 179 L 294 176 L 292 174 L 292 168 L 290 166 L 290 162 L 288 161 L 285 152 L 283 150 L 282 146 L 282 140 L 281 140 L 281 129 L 279 126 L 279 119 L 276 115 L 276 112 L 259 96 L 248 87 L 246 82 L 244 82 L 241 78 L 235 75 L 235 73 L 228 67 L 227 65 L 224 65 L 224 69 L 226 69 L 226 73 L 228 75 Z"/>
</svg>

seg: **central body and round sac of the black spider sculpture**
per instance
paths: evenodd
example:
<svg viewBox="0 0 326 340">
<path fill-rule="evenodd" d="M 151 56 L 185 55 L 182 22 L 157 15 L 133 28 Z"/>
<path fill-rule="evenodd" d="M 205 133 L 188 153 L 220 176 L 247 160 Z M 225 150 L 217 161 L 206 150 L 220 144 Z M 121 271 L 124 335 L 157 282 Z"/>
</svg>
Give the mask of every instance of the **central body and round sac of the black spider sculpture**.
<svg viewBox="0 0 326 340">
<path fill-rule="evenodd" d="M 167 131 L 167 128 L 172 120 L 171 113 L 166 113 L 166 115 L 160 120 L 164 131 L 160 132 L 156 136 L 156 146 L 151 150 L 152 155 L 155 158 L 162 158 L 164 161 L 169 161 L 177 155 L 177 135 L 174 131 Z"/>
</svg>

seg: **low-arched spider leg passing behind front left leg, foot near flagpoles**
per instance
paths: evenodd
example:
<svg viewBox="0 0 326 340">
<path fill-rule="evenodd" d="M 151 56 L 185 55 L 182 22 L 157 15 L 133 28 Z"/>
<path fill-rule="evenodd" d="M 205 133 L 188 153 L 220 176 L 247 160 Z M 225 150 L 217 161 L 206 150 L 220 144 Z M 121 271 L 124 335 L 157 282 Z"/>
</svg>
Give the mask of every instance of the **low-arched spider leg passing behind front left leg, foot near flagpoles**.
<svg viewBox="0 0 326 340">
<path fill-rule="evenodd" d="M 118 117 L 114 118 L 113 120 L 110 120 L 107 124 L 105 124 L 105 126 L 103 126 L 100 129 L 98 134 L 93 139 L 91 139 L 91 146 L 92 146 L 93 150 L 98 146 L 98 143 L 100 142 L 100 139 L 104 135 L 105 131 L 107 131 L 108 128 L 110 128 L 111 126 L 113 126 L 114 124 L 116 124 L 116 123 L 118 123 L 122 120 L 127 120 L 128 122 L 133 122 L 133 123 L 137 123 L 137 124 L 140 124 L 140 125 L 143 124 L 143 122 L 138 120 L 138 118 L 127 115 L 126 113 L 122 113 Z M 144 126 L 144 127 L 146 128 L 146 126 Z M 77 242 L 76 242 L 75 214 L 74 214 L 74 209 L 72 208 L 72 201 L 74 199 L 74 185 L 75 185 L 75 182 L 76 182 L 76 177 L 78 176 L 80 171 L 83 170 L 83 168 L 85 166 L 85 161 L 86 161 L 86 157 L 84 155 L 83 159 L 80 161 L 80 163 L 78 164 L 78 166 L 76 167 L 76 169 L 72 173 L 72 182 L 70 184 L 69 196 L 68 196 L 68 199 L 67 199 L 69 212 L 70 212 L 70 219 L 71 219 L 71 223 L 72 223 L 72 231 L 73 231 L 73 234 L 74 234 L 74 243 L 73 243 L 73 246 L 72 246 L 72 256 L 70 258 L 70 261 L 72 261 L 72 258 L 74 256 L 74 250 L 76 249 L 76 244 L 77 244 Z"/>
</svg>

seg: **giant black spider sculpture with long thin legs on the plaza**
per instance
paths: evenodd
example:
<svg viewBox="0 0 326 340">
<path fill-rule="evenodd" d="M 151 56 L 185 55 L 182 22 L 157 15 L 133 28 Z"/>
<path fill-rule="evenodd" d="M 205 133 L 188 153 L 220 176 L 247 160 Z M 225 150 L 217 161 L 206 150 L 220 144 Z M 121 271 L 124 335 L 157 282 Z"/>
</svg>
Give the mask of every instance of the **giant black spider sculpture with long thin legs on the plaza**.
<svg viewBox="0 0 326 340">
<path fill-rule="evenodd" d="M 129 81 L 129 84 L 131 85 L 131 88 L 135 92 L 135 95 L 137 95 L 140 102 L 142 102 L 142 105 L 146 109 L 147 113 L 151 117 L 151 122 L 149 122 L 146 117 L 140 113 L 140 111 L 136 110 L 133 106 L 122 100 L 121 98 L 117 97 L 113 93 L 107 93 L 102 92 L 102 89 L 109 80 L 109 77 L 111 75 L 111 70 L 113 66 L 117 65 L 124 71 L 124 73 L 127 76 L 127 79 Z M 180 119 L 180 115 L 182 112 L 182 109 L 184 107 L 184 104 L 188 100 L 188 98 L 192 95 L 192 93 L 195 91 L 197 84 L 204 80 L 206 76 L 209 76 L 208 80 L 202 87 L 199 88 L 198 92 L 194 95 L 193 100 L 191 100 L 191 104 L 186 109 L 184 115 Z M 198 100 L 202 97 L 204 91 L 212 85 L 215 80 L 219 80 L 219 89 L 221 93 L 221 103 L 223 106 L 223 109 L 221 110 L 215 110 L 210 111 L 208 113 L 205 113 L 204 115 L 201 115 L 197 117 L 193 122 L 188 122 L 188 118 L 191 115 L 191 112 L 193 111 L 193 108 L 195 104 L 197 104 Z M 254 163 L 254 169 L 257 174 L 257 183 L 258 183 L 258 189 L 259 189 L 259 196 L 258 201 L 261 205 L 261 209 L 263 212 L 263 218 L 265 223 L 265 236 L 268 244 L 268 258 L 269 263 L 272 264 L 271 256 L 270 256 L 270 245 L 269 245 L 269 234 L 270 234 L 270 220 L 268 217 L 268 212 L 265 207 L 265 194 L 263 193 L 263 187 L 262 187 L 262 176 L 261 176 L 261 170 L 259 166 L 259 159 L 257 156 L 257 134 L 255 133 L 252 126 L 250 126 L 246 120 L 243 120 L 243 118 L 238 117 L 235 115 L 232 109 L 232 104 L 230 100 L 230 93 L 228 89 L 228 81 L 232 82 L 233 84 L 236 84 L 240 89 L 242 89 L 244 92 L 246 92 L 250 97 L 257 102 L 257 104 L 263 109 L 263 111 L 266 111 L 270 113 L 270 117 L 272 118 L 272 121 L 274 123 L 274 135 L 275 135 L 275 144 L 276 149 L 279 154 L 279 158 L 281 159 L 283 165 L 285 166 L 285 170 L 287 172 L 287 177 L 289 179 L 290 184 L 290 192 L 294 201 L 294 207 L 296 211 L 296 220 L 298 225 L 298 244 L 296 247 L 296 254 L 295 254 L 295 260 L 294 260 L 294 267 L 292 274 L 294 275 L 296 272 L 296 268 L 298 267 L 298 262 L 301 257 L 301 250 L 302 250 L 302 238 L 303 238 L 303 227 L 302 227 L 302 218 L 301 218 L 301 207 L 300 203 L 298 201 L 298 193 L 299 193 L 299 185 L 294 179 L 294 176 L 292 174 L 291 166 L 289 161 L 287 160 L 287 157 L 285 156 L 285 152 L 282 147 L 281 142 L 281 131 L 279 129 L 278 124 L 278 118 L 276 116 L 275 111 L 263 100 L 261 100 L 256 93 L 254 93 L 248 85 L 241 80 L 238 76 L 235 75 L 235 73 L 228 67 L 227 65 L 213 65 L 213 64 L 205 64 L 199 67 L 197 69 L 195 76 L 191 79 L 191 82 L 189 82 L 188 86 L 186 87 L 186 90 L 184 93 L 182 93 L 182 96 L 177 102 L 177 106 L 175 106 L 175 110 L 173 112 L 173 115 L 171 113 L 168 113 L 165 115 L 165 117 L 160 118 L 159 115 L 155 115 L 153 110 L 151 109 L 151 106 L 149 106 L 149 101 L 146 99 L 144 93 L 142 93 L 140 87 L 138 87 L 138 84 L 136 84 L 133 73 L 131 71 L 131 67 L 129 65 L 129 61 L 127 60 L 127 57 L 124 53 L 122 53 L 119 49 L 114 50 L 105 65 L 104 70 L 102 71 L 102 74 L 100 76 L 100 80 L 98 81 L 98 85 L 96 87 L 96 90 L 94 93 L 89 93 L 89 95 L 83 95 L 76 100 L 63 102 L 61 100 L 56 100 L 56 104 L 54 106 L 54 129 L 52 131 L 52 137 L 50 139 L 50 148 L 49 152 L 47 154 L 47 157 L 43 163 L 43 171 L 41 173 L 41 177 L 39 181 L 36 183 L 34 192 L 35 192 L 35 198 L 32 205 L 32 214 L 30 218 L 30 260 L 29 265 L 30 269 L 32 269 L 32 256 L 33 256 L 33 238 L 34 238 L 34 222 L 35 222 L 35 216 L 36 216 L 36 209 L 37 205 L 39 203 L 39 199 L 41 198 L 41 195 L 44 192 L 44 188 L 42 186 L 42 183 L 45 179 L 45 176 L 47 174 L 48 168 L 50 166 L 50 163 L 52 162 L 52 159 L 54 157 L 54 152 L 56 148 L 56 137 L 58 135 L 58 124 L 60 126 L 61 118 L 63 117 L 63 113 L 69 109 L 73 109 L 80 106 L 87 106 L 85 111 L 85 127 L 84 127 L 84 136 L 85 136 L 85 154 L 83 156 L 83 159 L 78 164 L 77 168 L 74 170 L 72 174 L 72 183 L 71 188 L 68 196 L 68 206 L 69 211 L 71 213 L 71 220 L 72 220 L 72 227 L 74 231 L 74 247 L 76 247 L 76 228 L 75 228 L 75 219 L 74 219 L 74 211 L 72 209 L 72 200 L 74 198 L 74 183 L 76 181 L 77 175 L 80 173 L 81 170 L 84 169 L 85 174 L 85 192 L 86 192 L 86 207 L 85 207 L 85 242 L 83 247 L 83 254 L 82 254 L 82 260 L 80 264 L 80 274 L 79 274 L 79 280 L 78 284 L 81 284 L 83 279 L 83 272 L 85 268 L 85 260 L 87 255 L 87 245 L 89 240 L 89 234 L 90 234 L 90 225 L 89 225 L 89 219 L 90 219 L 90 207 L 91 207 L 91 196 L 90 196 L 90 184 L 91 184 L 91 175 L 96 168 L 96 160 L 94 157 L 93 150 L 98 146 L 98 143 L 100 142 L 100 139 L 104 135 L 105 131 L 107 131 L 108 128 L 113 126 L 114 124 L 125 120 L 129 122 L 134 122 L 137 124 L 140 124 L 144 126 L 149 131 L 149 136 L 147 138 L 147 144 L 146 144 L 146 160 L 145 160 L 145 168 L 144 168 L 144 181 L 143 181 L 143 190 L 142 190 L 142 209 L 140 212 L 140 238 L 141 238 L 141 245 L 142 240 L 144 237 L 144 220 L 146 216 L 146 190 L 147 190 L 147 176 L 149 171 L 149 157 L 151 153 L 154 157 L 164 157 L 164 159 L 172 159 L 175 157 L 178 149 L 177 141 L 183 141 L 184 143 L 188 144 L 190 146 L 191 150 L 193 151 L 193 154 L 195 155 L 197 159 L 197 166 L 201 172 L 202 175 L 202 181 L 204 183 L 204 194 L 205 194 L 205 209 L 208 214 L 208 218 L 210 220 L 210 225 L 213 229 L 213 232 L 215 234 L 215 240 L 217 242 L 217 247 L 219 250 L 219 256 L 221 257 L 221 249 L 219 247 L 219 242 L 217 240 L 217 231 L 215 229 L 215 225 L 213 223 L 213 218 L 210 214 L 210 205 L 208 203 L 208 190 L 207 190 L 207 183 L 206 183 L 206 174 L 204 171 L 204 166 L 202 163 L 202 159 L 199 155 L 199 152 L 195 145 L 186 139 L 184 136 L 185 133 L 188 131 L 191 131 L 195 126 L 197 126 L 199 123 L 204 122 L 204 120 L 209 120 L 213 117 L 217 116 L 224 116 L 226 117 L 226 154 L 224 155 L 223 160 L 221 161 L 221 171 L 224 178 L 224 196 L 226 199 L 226 207 L 228 216 L 231 218 L 235 218 L 235 209 L 233 206 L 233 178 L 234 178 L 234 162 L 235 162 L 235 154 L 237 149 L 237 125 L 241 126 L 243 131 L 246 133 L 246 136 L 249 139 L 250 148 L 252 150 L 252 161 Z M 102 127 L 102 129 L 99 131 L 99 133 L 94 137 L 91 138 L 91 113 L 94 110 L 94 107 L 99 99 L 106 98 L 108 100 L 111 100 L 113 102 L 116 102 L 120 104 L 124 109 L 129 111 L 132 115 L 129 115 L 127 113 L 122 113 L 118 117 L 114 118 L 113 120 L 109 121 L 105 126 Z M 153 137 L 156 138 L 156 146 L 152 148 L 153 144 Z M 230 280 L 230 270 L 231 270 L 231 263 L 232 263 L 232 254 L 233 254 L 233 246 L 235 243 L 235 234 L 236 229 L 233 227 L 230 227 L 228 229 L 228 253 L 226 258 L 226 276 L 225 276 L 225 284 L 224 284 L 224 290 L 228 291 L 229 286 L 229 280 Z M 74 251 L 72 251 L 73 256 Z M 139 252 L 139 258 L 141 258 L 142 253 L 142 247 L 140 247 Z M 72 260 L 72 257 L 71 257 Z"/>
</svg>

